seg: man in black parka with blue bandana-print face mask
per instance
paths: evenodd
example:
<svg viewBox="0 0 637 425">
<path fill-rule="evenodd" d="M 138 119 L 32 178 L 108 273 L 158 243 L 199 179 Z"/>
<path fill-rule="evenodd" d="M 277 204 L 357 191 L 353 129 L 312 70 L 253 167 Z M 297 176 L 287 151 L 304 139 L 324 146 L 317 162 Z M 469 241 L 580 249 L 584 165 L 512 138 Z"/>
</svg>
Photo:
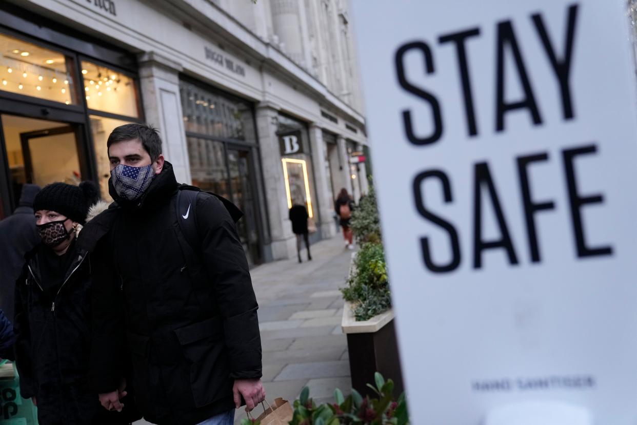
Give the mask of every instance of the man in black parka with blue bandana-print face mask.
<svg viewBox="0 0 637 425">
<path fill-rule="evenodd" d="M 242 399 L 252 409 L 265 398 L 258 306 L 234 220 L 203 192 L 176 212 L 179 185 L 155 129 L 120 126 L 107 145 L 117 206 L 92 220 L 108 229 L 93 292 L 100 401 L 120 408 L 117 347 L 126 344 L 147 421 L 232 424 Z M 177 213 L 196 219 L 197 241 L 185 238 Z"/>
</svg>

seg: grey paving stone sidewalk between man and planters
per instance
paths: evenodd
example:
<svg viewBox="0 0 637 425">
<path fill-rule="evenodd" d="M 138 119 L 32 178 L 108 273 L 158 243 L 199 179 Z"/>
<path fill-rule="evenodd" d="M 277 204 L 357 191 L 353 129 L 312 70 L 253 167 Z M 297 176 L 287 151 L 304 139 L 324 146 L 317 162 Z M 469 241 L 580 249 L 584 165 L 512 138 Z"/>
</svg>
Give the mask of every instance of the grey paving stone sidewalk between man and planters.
<svg viewBox="0 0 637 425">
<path fill-rule="evenodd" d="M 342 238 L 311 246 L 313 260 L 263 264 L 251 271 L 259 301 L 263 378 L 268 400 L 290 403 L 308 385 L 317 403 L 331 401 L 334 388 L 352 387 L 347 338 L 341 332 L 343 298 L 352 251 Z M 258 411 L 258 410 L 257 410 Z M 245 417 L 237 410 L 235 422 Z"/>
</svg>

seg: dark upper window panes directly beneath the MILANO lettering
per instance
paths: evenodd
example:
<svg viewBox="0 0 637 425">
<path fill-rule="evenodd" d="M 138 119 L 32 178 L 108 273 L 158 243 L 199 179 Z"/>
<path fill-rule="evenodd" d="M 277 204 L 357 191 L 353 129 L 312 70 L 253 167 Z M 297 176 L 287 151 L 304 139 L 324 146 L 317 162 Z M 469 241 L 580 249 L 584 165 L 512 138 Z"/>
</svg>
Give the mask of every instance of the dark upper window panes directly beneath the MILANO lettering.
<svg viewBox="0 0 637 425">
<path fill-rule="evenodd" d="M 249 103 L 185 82 L 180 91 L 186 133 L 256 143 Z"/>
</svg>

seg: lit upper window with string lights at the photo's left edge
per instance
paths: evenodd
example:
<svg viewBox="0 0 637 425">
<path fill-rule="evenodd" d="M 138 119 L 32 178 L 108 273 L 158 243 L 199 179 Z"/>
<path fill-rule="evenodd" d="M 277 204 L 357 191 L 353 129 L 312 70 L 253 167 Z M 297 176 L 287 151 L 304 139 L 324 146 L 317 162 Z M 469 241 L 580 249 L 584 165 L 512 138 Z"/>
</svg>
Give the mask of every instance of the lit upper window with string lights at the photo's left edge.
<svg viewBox="0 0 637 425">
<path fill-rule="evenodd" d="M 77 103 L 73 60 L 60 52 L 0 34 L 0 90 Z"/>
</svg>

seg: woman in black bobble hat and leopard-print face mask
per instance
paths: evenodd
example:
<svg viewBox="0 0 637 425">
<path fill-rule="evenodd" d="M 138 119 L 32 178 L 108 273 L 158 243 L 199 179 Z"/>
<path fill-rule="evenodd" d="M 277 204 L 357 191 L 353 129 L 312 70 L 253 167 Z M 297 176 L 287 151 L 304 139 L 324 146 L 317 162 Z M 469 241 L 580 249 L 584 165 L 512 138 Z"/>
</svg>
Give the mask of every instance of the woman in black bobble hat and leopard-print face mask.
<svg viewBox="0 0 637 425">
<path fill-rule="evenodd" d="M 40 425 L 127 424 L 107 412 L 89 382 L 92 234 L 77 236 L 97 187 L 48 185 L 34 200 L 41 237 L 15 289 L 15 354 L 20 394 L 38 406 Z"/>
</svg>

